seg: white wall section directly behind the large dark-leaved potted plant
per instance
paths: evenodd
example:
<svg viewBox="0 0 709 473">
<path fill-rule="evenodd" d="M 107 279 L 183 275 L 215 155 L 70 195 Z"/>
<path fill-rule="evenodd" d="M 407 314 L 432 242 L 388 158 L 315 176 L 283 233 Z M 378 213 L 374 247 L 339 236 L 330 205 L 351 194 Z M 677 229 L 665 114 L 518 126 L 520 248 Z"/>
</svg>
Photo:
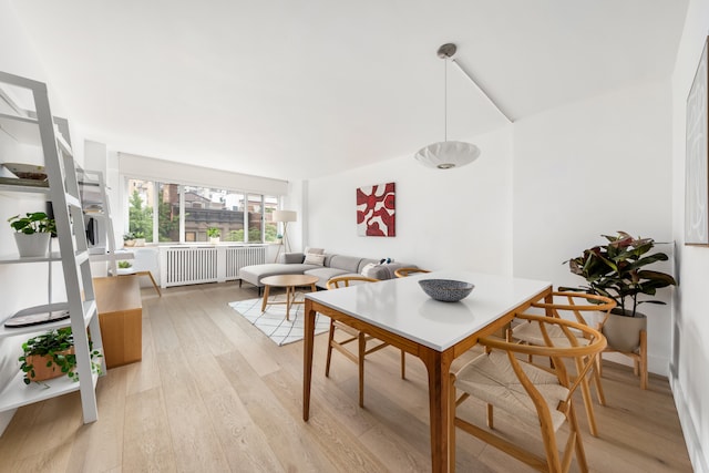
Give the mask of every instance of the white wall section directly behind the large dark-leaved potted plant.
<svg viewBox="0 0 709 473">
<path fill-rule="evenodd" d="M 671 241 L 670 99 L 669 83 L 641 84 L 515 123 L 516 276 L 579 286 L 585 280 L 563 261 L 603 244 L 602 235 Z M 657 249 L 671 256 L 672 245 Z M 660 291 L 665 301 L 671 291 Z M 640 311 L 648 316 L 649 370 L 667 376 L 671 306 Z"/>
</svg>

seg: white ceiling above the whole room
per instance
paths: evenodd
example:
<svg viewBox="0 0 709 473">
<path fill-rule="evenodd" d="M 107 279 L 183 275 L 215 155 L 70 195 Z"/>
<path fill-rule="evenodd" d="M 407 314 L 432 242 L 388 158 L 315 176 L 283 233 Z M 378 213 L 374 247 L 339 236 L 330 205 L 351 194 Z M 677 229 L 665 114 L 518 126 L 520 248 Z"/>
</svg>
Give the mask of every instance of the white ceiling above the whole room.
<svg viewBox="0 0 709 473">
<path fill-rule="evenodd" d="M 298 179 L 444 140 L 446 42 L 514 120 L 668 80 L 687 0 L 12 0 L 110 148 Z M 506 120 L 448 68 L 448 138 Z M 483 150 L 484 157 L 484 150 Z"/>
</svg>

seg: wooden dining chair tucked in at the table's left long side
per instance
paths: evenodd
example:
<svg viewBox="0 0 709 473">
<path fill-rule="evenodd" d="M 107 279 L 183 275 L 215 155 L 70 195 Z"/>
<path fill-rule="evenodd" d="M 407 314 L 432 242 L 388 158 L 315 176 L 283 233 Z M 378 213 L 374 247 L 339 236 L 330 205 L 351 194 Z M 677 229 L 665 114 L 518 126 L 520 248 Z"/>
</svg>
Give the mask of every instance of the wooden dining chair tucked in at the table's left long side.
<svg viewBox="0 0 709 473">
<path fill-rule="evenodd" d="M 351 284 L 362 284 L 362 282 L 378 282 L 379 279 L 367 278 L 364 276 L 339 276 L 331 278 L 327 282 L 328 289 L 338 289 L 341 287 L 349 287 Z M 345 332 L 348 338 L 338 340 L 336 338 L 337 331 Z M 346 345 L 357 341 L 357 353 L 346 348 Z M 369 346 L 369 347 L 368 347 Z M 332 358 L 332 349 L 342 353 L 348 360 L 354 362 L 359 366 L 359 405 L 360 408 L 364 407 L 364 358 L 373 353 L 374 351 L 379 351 L 384 347 L 388 347 L 389 343 L 386 343 L 370 335 L 367 335 L 362 331 L 357 330 L 353 327 L 350 327 L 346 323 L 339 322 L 337 320 L 330 319 L 330 331 L 328 335 L 328 357 L 325 363 L 325 376 L 330 376 L 330 359 Z M 405 378 L 405 358 L 404 351 L 401 350 L 401 379 Z"/>
</svg>

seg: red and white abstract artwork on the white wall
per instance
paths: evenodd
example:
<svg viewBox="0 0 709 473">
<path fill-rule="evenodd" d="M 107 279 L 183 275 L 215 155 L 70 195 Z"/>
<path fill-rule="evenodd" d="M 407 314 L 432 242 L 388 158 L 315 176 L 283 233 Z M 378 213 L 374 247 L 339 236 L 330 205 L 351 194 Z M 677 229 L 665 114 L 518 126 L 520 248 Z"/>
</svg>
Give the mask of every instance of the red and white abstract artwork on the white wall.
<svg viewBox="0 0 709 473">
<path fill-rule="evenodd" d="M 357 234 L 397 236 L 394 183 L 357 189 Z"/>
</svg>

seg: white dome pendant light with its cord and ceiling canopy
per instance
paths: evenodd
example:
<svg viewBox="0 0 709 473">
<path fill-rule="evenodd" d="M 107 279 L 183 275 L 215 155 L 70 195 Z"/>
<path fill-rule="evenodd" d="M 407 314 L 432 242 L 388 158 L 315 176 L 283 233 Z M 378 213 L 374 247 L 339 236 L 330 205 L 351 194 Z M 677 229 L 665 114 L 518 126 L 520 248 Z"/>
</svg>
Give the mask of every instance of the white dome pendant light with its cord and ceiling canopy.
<svg viewBox="0 0 709 473">
<path fill-rule="evenodd" d="M 448 141 L 448 60 L 455 54 L 456 47 L 453 43 L 439 48 L 439 58 L 445 61 L 445 86 L 443 93 L 444 137 L 442 142 L 430 144 L 414 155 L 424 166 L 436 169 L 451 169 L 472 163 L 480 156 L 480 148 L 472 143 Z"/>
</svg>

